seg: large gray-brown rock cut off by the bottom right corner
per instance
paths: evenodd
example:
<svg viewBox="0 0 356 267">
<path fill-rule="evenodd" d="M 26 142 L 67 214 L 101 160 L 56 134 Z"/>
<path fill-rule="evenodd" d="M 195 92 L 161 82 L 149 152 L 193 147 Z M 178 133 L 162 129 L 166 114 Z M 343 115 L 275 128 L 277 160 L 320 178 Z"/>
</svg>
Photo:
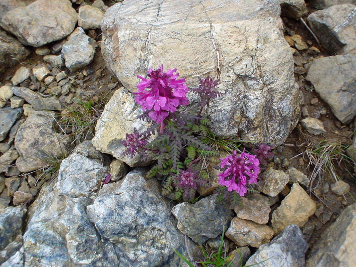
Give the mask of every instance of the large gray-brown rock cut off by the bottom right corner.
<svg viewBox="0 0 356 267">
<path fill-rule="evenodd" d="M 356 204 L 345 208 L 323 232 L 307 259 L 307 267 L 356 266 Z"/>
</svg>

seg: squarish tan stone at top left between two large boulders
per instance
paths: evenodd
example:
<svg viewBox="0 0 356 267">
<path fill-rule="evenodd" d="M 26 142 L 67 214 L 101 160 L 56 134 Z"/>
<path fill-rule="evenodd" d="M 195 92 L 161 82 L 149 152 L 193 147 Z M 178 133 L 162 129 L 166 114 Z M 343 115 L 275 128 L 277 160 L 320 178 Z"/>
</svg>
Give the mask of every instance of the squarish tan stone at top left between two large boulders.
<svg viewBox="0 0 356 267">
<path fill-rule="evenodd" d="M 83 29 L 100 29 L 100 22 L 104 17 L 104 12 L 91 5 L 79 7 L 78 26 Z"/>
</svg>

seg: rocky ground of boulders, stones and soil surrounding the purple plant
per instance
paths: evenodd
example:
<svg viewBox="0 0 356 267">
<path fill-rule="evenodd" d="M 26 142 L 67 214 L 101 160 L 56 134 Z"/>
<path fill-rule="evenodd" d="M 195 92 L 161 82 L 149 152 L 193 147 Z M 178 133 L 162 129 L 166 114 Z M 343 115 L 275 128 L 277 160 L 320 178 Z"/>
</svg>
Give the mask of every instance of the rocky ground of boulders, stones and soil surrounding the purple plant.
<svg viewBox="0 0 356 267">
<path fill-rule="evenodd" d="M 0 3 L 0 267 L 185 266 L 223 229 L 232 266 L 355 266 L 356 1 L 121 2 Z M 233 210 L 216 174 L 172 202 L 123 155 L 162 63 L 220 79 L 213 133 L 275 147 Z"/>
</svg>

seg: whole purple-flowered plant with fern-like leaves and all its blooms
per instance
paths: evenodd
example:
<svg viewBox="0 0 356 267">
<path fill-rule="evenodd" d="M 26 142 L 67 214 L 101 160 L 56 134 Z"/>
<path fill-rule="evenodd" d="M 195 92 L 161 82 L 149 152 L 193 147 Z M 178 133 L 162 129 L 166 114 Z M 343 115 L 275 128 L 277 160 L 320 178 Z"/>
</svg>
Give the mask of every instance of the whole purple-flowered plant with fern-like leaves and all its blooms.
<svg viewBox="0 0 356 267">
<path fill-rule="evenodd" d="M 151 123 L 143 133 L 134 129 L 126 134 L 122 143 L 125 154 L 133 157 L 139 153 L 149 158 L 148 152 L 154 153 L 157 163 L 147 173 L 148 177 L 162 179 L 162 193 L 173 199 L 192 201 L 200 186 L 207 186 L 209 175 L 206 162 L 218 155 L 204 141 L 204 136 L 211 132 L 209 120 L 201 117 L 204 107 L 211 99 L 223 94 L 216 91 L 219 80 L 211 77 L 199 79 L 199 86 L 190 92 L 200 97 L 196 110 L 192 113 L 181 112 L 180 106 L 187 106 L 186 97 L 189 89 L 185 79 L 180 79 L 177 69 L 164 71 L 163 65 L 158 69 L 149 69 L 147 77 L 137 76 L 141 81 L 137 85 L 135 101 L 142 107 L 140 119 Z M 149 141 L 154 136 L 152 141 Z M 247 186 L 257 182 L 260 172 L 259 160 L 245 150 L 221 158 L 218 182 L 222 189 L 236 196 L 244 196 Z M 211 160 L 212 161 L 212 160 Z M 204 162 L 204 165 L 202 164 Z M 226 190 L 227 189 L 227 190 Z M 225 194 L 226 195 L 226 194 Z"/>
</svg>

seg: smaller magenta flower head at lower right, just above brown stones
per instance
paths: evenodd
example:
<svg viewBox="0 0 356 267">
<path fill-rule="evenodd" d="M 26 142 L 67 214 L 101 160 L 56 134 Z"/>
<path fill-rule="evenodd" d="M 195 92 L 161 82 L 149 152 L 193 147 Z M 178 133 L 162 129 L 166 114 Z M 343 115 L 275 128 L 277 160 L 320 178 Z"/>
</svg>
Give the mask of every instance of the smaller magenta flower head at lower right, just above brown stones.
<svg viewBox="0 0 356 267">
<path fill-rule="evenodd" d="M 247 192 L 247 184 L 257 182 L 260 173 L 260 162 L 255 155 L 245 152 L 237 154 L 236 150 L 232 155 L 220 158 L 220 167 L 224 168 L 219 177 L 219 184 L 227 187 L 228 191 L 236 191 L 240 196 Z"/>
</svg>

